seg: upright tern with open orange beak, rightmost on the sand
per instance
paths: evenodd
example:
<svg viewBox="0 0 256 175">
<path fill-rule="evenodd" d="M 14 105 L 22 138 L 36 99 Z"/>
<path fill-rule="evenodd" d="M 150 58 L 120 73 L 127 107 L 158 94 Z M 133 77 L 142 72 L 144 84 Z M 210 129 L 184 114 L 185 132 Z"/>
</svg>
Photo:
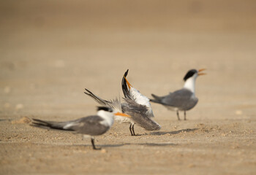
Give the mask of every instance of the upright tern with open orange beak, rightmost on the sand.
<svg viewBox="0 0 256 175">
<path fill-rule="evenodd" d="M 184 111 L 184 120 L 187 120 L 186 111 L 192 109 L 198 101 L 198 98 L 195 96 L 195 79 L 197 79 L 197 76 L 205 74 L 201 72 L 204 70 L 206 69 L 189 70 L 184 77 L 185 84 L 182 89 L 169 93 L 167 96 L 156 96 L 151 94 L 154 99 L 150 99 L 150 101 L 162 104 L 167 107 L 167 109 L 176 111 L 178 120 L 180 120 L 178 112 Z"/>
</svg>

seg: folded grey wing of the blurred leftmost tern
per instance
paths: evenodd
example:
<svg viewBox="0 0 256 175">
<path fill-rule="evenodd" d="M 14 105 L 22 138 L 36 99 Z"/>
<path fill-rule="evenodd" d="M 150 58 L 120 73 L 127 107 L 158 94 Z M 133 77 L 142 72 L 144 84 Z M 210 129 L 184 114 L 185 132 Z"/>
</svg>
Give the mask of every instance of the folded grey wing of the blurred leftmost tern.
<svg viewBox="0 0 256 175">
<path fill-rule="evenodd" d="M 67 124 L 65 128 L 76 131 L 77 133 L 97 136 L 105 133 L 110 128 L 110 126 L 102 125 L 100 123 L 102 120 L 102 117 L 92 115 L 73 120 L 71 123 Z"/>
</svg>

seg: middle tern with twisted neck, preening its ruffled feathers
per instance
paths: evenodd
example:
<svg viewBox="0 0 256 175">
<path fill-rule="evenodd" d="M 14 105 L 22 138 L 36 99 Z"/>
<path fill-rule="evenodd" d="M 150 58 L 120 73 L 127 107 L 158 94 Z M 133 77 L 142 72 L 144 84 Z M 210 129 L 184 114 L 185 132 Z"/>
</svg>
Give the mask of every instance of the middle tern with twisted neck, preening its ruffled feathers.
<svg viewBox="0 0 256 175">
<path fill-rule="evenodd" d="M 126 79 L 127 74 L 128 74 L 128 70 L 124 74 L 124 77 L 121 81 L 122 89 L 125 96 L 124 98 L 125 102 L 122 103 L 121 105 L 119 105 L 115 101 L 104 100 L 99 96 L 96 96 L 94 93 L 92 93 L 88 89 L 85 89 L 86 92 L 84 93 L 86 93 L 86 95 L 93 98 L 100 105 L 114 108 L 118 112 L 123 112 L 131 116 L 129 118 L 129 117 L 123 117 L 121 115 L 117 115 L 114 117 L 114 119 L 119 123 L 129 123 L 130 124 L 129 131 L 132 136 L 136 136 L 134 131 L 135 123 L 140 125 L 140 127 L 146 129 L 146 131 L 159 130 L 161 126 L 158 123 L 156 123 L 154 120 L 151 120 L 151 117 L 154 117 L 154 114 L 151 109 L 151 104 L 149 102 L 149 99 L 146 96 L 143 96 L 135 88 L 132 88 L 132 85 L 130 85 Z M 129 89 L 127 88 L 127 86 Z"/>
</svg>

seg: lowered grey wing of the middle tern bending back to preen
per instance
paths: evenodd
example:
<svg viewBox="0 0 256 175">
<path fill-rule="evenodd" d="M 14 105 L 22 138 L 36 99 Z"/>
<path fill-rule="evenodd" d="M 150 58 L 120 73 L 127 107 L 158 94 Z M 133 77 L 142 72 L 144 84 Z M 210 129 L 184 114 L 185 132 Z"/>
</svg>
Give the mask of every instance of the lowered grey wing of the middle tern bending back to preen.
<svg viewBox="0 0 256 175">
<path fill-rule="evenodd" d="M 157 131 L 161 128 L 158 123 L 146 115 L 147 106 L 137 104 L 135 101 L 128 98 L 124 98 L 124 100 L 127 102 L 122 105 L 124 112 L 129 114 L 132 117 L 132 120 L 140 125 L 141 128 L 146 129 L 146 131 Z"/>
</svg>

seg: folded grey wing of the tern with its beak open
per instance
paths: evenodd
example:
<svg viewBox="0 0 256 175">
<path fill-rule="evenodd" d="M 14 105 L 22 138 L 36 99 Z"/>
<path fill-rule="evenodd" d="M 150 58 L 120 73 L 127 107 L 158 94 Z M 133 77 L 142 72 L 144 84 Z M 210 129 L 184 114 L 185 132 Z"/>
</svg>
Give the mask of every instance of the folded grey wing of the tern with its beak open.
<svg viewBox="0 0 256 175">
<path fill-rule="evenodd" d="M 198 99 L 192 98 L 193 93 L 187 89 L 177 90 L 162 98 L 162 104 L 180 109 L 191 109 L 197 104 Z"/>
</svg>

